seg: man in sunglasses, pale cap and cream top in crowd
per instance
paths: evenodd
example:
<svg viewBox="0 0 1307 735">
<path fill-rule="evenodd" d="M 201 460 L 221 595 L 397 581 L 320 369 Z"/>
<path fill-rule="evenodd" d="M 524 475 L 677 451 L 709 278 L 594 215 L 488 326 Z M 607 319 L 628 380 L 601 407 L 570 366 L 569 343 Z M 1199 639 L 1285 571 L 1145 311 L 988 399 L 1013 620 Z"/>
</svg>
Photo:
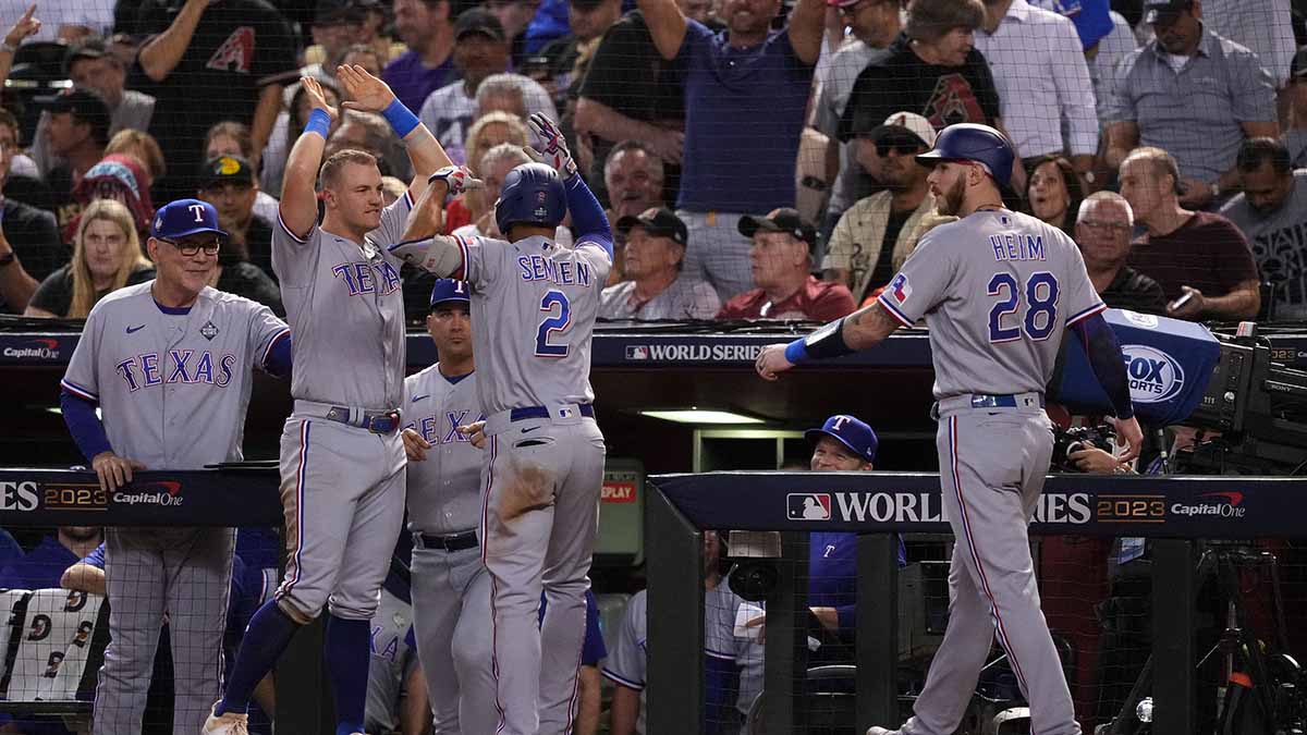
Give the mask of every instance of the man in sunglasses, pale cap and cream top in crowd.
<svg viewBox="0 0 1307 735">
<path fill-rule="evenodd" d="M 927 230 L 955 218 L 935 212 L 935 196 L 925 183 L 931 171 L 915 158 L 932 145 L 929 120 L 907 111 L 853 140 L 859 163 L 874 165 L 886 188 L 839 218 L 826 243 L 822 272 L 825 280 L 848 286 L 857 303 L 890 282 Z"/>
</svg>

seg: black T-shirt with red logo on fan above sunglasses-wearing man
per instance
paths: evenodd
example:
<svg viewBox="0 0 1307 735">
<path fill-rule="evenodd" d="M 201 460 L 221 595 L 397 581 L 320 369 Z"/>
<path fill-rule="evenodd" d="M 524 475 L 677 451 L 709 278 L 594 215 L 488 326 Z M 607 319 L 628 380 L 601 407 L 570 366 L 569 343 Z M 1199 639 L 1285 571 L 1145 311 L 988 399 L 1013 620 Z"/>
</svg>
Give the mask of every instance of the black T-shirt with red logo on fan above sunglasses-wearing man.
<svg viewBox="0 0 1307 735">
<path fill-rule="evenodd" d="M 931 120 L 937 131 L 957 123 L 989 126 L 1000 116 L 993 75 L 975 48 L 961 67 L 927 64 L 903 35 L 890 48 L 890 56 L 857 75 L 839 120 L 842 141 L 904 110 Z"/>
</svg>

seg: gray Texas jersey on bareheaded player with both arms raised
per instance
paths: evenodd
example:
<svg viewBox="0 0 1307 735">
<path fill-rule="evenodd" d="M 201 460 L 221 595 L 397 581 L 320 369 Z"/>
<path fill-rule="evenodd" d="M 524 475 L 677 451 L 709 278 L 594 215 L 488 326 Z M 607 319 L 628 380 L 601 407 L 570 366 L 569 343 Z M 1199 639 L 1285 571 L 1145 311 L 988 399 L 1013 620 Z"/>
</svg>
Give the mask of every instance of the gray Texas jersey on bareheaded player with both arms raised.
<svg viewBox="0 0 1307 735">
<path fill-rule="evenodd" d="M 305 238 L 285 224 L 272 233 L 272 269 L 295 333 L 290 395 L 299 400 L 389 411 L 404 394 L 403 260 L 409 195 L 382 212 L 362 246 L 314 225 Z M 379 339 L 361 339 L 376 335 Z"/>
</svg>

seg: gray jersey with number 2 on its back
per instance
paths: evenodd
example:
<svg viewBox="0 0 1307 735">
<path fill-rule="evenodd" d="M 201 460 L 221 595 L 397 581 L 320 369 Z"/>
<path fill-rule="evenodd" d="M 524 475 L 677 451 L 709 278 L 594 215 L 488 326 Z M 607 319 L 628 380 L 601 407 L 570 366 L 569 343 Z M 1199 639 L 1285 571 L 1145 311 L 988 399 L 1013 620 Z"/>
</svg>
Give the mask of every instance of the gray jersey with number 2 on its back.
<svg viewBox="0 0 1307 735">
<path fill-rule="evenodd" d="M 486 415 L 591 403 L 589 348 L 612 260 L 603 247 L 455 238 L 472 284 L 472 341 Z"/>
</svg>

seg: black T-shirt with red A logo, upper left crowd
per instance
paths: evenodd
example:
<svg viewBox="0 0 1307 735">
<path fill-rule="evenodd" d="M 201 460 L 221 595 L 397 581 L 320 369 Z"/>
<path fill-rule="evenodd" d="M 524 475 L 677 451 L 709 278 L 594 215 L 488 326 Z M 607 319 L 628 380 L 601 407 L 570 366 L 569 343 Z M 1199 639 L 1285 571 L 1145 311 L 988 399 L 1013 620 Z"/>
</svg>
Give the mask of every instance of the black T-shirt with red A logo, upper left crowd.
<svg viewBox="0 0 1307 735">
<path fill-rule="evenodd" d="M 142 34 L 163 33 L 183 0 L 146 0 L 137 12 Z M 163 200 L 193 196 L 204 136 L 220 120 L 254 123 L 259 93 L 289 84 L 299 73 L 298 39 L 286 18 L 265 0 L 222 0 L 204 10 L 176 68 L 162 82 L 137 64 L 129 86 L 156 98 L 150 133 L 167 158 L 159 183 Z"/>
</svg>

